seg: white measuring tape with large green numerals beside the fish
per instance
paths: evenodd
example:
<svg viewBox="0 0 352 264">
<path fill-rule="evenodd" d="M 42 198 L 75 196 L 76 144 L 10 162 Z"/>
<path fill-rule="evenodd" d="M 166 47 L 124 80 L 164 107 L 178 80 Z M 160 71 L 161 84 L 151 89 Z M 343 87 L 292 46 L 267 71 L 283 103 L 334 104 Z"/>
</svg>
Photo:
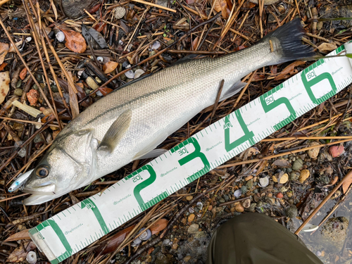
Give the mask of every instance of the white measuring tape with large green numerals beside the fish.
<svg viewBox="0 0 352 264">
<path fill-rule="evenodd" d="M 339 47 L 329 55 L 346 48 Z M 348 52 L 348 50 L 350 50 Z M 346 56 L 325 58 L 167 153 L 30 230 L 51 263 L 72 256 L 210 170 L 289 124 L 352 82 Z"/>
</svg>

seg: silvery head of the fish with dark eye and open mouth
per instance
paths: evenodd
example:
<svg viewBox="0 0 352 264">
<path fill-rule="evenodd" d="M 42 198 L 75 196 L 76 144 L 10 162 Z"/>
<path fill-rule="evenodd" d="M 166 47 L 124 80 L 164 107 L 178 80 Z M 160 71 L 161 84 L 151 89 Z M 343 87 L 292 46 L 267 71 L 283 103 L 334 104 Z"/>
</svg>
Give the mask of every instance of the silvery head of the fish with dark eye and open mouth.
<svg viewBox="0 0 352 264">
<path fill-rule="evenodd" d="M 77 189 L 90 173 L 86 163 L 77 161 L 61 148 L 46 153 L 30 174 L 23 191 L 33 194 L 25 204 L 39 204 Z"/>
</svg>

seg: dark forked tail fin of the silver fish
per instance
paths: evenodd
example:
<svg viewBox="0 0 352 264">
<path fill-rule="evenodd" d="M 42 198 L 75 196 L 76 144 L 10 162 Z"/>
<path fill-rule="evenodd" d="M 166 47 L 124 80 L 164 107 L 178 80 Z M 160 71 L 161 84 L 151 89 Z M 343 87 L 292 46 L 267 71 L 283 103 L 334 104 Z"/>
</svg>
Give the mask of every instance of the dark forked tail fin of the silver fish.
<svg viewBox="0 0 352 264">
<path fill-rule="evenodd" d="M 278 45 L 275 45 L 279 53 L 280 60 L 277 63 L 285 61 L 295 61 L 300 58 L 313 57 L 315 52 L 310 46 L 302 44 L 301 39 L 304 34 L 301 20 L 296 18 L 277 30 L 267 34 L 260 42 L 268 42 L 270 39 Z"/>
</svg>

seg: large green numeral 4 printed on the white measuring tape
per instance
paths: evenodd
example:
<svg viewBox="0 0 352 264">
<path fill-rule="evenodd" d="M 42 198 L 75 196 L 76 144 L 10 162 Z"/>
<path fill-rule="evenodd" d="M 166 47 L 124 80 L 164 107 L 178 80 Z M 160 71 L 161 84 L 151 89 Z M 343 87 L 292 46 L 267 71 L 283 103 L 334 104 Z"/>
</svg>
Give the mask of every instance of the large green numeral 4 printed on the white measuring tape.
<svg viewBox="0 0 352 264">
<path fill-rule="evenodd" d="M 237 110 L 234 112 L 234 114 L 236 115 L 237 120 L 239 121 L 239 125 L 241 125 L 241 129 L 244 132 L 244 136 L 240 137 L 239 139 L 236 139 L 234 142 L 230 142 L 230 127 L 232 127 L 232 124 L 230 122 L 229 115 L 227 115 L 225 117 L 225 129 L 224 129 L 225 130 L 225 149 L 227 152 L 232 151 L 232 149 L 236 148 L 237 146 L 241 145 L 247 140 L 249 140 L 249 143 L 251 145 L 255 144 L 253 140 L 254 133 L 252 131 L 249 131 L 248 127 L 244 123 L 241 112 Z"/>
</svg>

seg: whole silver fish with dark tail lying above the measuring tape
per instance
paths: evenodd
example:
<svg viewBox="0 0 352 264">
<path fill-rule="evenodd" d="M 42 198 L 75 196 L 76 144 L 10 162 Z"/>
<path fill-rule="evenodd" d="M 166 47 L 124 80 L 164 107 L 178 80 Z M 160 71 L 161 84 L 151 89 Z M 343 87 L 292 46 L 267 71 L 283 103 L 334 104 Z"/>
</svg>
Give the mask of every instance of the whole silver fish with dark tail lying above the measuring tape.
<svg viewBox="0 0 352 264">
<path fill-rule="evenodd" d="M 253 46 L 218 58 L 175 63 L 117 89 L 66 125 L 34 168 L 25 205 L 56 199 L 132 161 L 165 153 L 156 149 L 204 108 L 237 94 L 241 78 L 258 68 L 315 55 L 301 42 L 301 20 L 278 27 Z"/>
</svg>

